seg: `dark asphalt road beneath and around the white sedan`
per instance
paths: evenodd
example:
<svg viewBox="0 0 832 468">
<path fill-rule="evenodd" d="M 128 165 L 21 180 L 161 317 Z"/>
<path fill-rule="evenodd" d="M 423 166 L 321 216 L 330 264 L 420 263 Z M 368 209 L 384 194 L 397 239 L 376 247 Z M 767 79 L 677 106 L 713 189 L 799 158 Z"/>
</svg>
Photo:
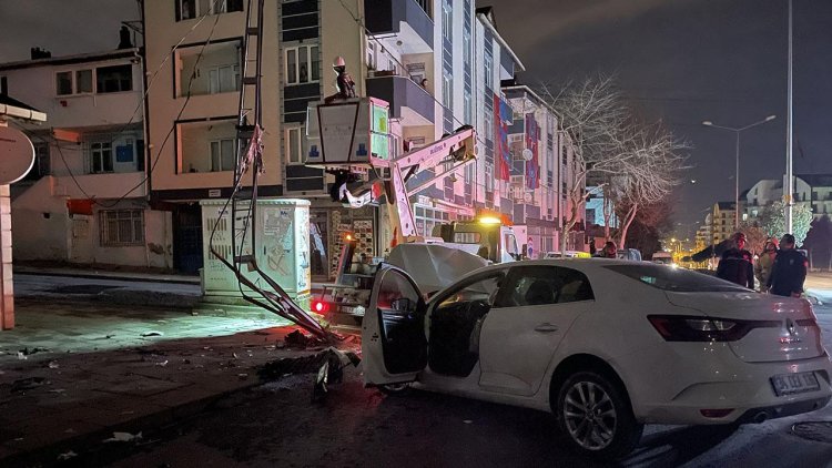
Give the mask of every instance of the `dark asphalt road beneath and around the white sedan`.
<svg viewBox="0 0 832 468">
<path fill-rule="evenodd" d="M 829 348 L 832 307 L 815 311 Z M 426 391 L 388 397 L 363 388 L 359 379 L 358 369 L 348 370 L 324 403 L 312 404 L 311 375 L 287 376 L 95 461 L 120 468 L 599 466 L 564 450 L 547 414 Z M 814 435 L 826 441 L 795 435 L 794 425 L 804 423 L 820 423 Z M 832 406 L 735 431 L 648 426 L 620 466 L 830 467 L 830 425 Z"/>
</svg>

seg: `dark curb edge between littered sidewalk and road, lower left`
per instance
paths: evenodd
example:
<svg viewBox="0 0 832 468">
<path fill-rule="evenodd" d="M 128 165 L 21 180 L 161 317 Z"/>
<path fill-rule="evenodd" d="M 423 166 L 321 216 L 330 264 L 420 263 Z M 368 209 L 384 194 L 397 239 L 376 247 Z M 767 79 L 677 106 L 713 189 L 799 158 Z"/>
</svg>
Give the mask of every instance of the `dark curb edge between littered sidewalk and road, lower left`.
<svg viewBox="0 0 832 468">
<path fill-rule="evenodd" d="M 141 415 L 118 425 L 108 426 L 91 433 L 81 434 L 75 437 L 63 439 L 57 442 L 47 444 L 42 447 L 31 449 L 26 452 L 18 452 L 4 458 L 0 458 L 0 465 L 3 466 L 101 466 L 102 464 L 115 461 L 108 460 L 113 457 L 113 451 L 123 454 L 124 442 L 103 442 L 113 436 L 113 433 L 142 433 L 142 439 L 150 439 L 152 436 L 164 431 L 166 426 L 192 418 L 204 413 L 215 403 L 233 396 L 235 394 L 250 390 L 265 384 L 257 379 L 231 390 L 225 390 L 215 395 L 202 397 L 192 401 L 183 403 L 174 407 L 165 408 L 158 413 Z M 134 442 L 133 442 L 134 444 Z M 133 447 L 131 444 L 128 447 Z M 61 454 L 69 451 L 78 454 L 68 460 L 60 460 Z"/>
</svg>

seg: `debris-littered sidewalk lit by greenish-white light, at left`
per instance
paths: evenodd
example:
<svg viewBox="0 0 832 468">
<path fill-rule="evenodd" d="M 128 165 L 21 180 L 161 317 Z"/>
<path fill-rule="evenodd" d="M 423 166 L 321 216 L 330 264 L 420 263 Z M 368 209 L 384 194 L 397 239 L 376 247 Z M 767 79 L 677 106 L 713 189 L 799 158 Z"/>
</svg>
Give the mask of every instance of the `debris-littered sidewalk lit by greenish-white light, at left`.
<svg viewBox="0 0 832 468">
<path fill-rule="evenodd" d="M 277 316 L 54 297 L 16 308 L 17 327 L 0 332 L 0 466 L 51 465 L 113 433 L 146 435 L 260 385 L 263 364 L 314 350 L 283 347 L 294 327 Z"/>
</svg>

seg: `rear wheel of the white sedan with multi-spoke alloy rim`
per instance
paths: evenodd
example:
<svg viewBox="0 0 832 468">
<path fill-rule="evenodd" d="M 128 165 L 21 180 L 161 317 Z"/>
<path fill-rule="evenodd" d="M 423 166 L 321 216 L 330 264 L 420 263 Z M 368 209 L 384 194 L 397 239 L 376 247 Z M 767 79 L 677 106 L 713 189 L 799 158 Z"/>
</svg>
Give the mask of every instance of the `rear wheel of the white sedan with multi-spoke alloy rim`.
<svg viewBox="0 0 832 468">
<path fill-rule="evenodd" d="M 602 373 L 572 374 L 557 393 L 558 428 L 577 451 L 600 459 L 621 458 L 641 439 L 626 390 Z"/>
</svg>

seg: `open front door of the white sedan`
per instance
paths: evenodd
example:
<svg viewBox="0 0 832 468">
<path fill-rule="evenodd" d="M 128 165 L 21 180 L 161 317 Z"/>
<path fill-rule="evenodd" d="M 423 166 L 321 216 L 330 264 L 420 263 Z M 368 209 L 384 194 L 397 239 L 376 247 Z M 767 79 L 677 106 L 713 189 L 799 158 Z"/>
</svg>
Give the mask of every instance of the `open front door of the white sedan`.
<svg viewBox="0 0 832 468">
<path fill-rule="evenodd" d="M 383 264 L 362 322 L 365 385 L 413 381 L 427 365 L 425 302 L 402 269 Z"/>
</svg>

